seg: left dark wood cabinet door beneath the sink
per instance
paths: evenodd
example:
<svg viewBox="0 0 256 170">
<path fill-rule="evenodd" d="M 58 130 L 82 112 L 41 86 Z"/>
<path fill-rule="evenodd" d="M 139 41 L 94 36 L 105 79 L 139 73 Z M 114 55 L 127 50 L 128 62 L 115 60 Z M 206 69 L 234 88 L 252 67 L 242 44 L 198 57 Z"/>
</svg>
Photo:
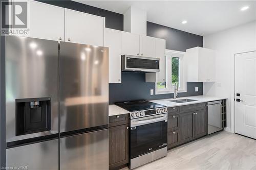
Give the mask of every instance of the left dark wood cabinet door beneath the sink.
<svg viewBox="0 0 256 170">
<path fill-rule="evenodd" d="M 194 112 L 180 114 L 180 143 L 193 140 L 193 114 Z"/>
</svg>

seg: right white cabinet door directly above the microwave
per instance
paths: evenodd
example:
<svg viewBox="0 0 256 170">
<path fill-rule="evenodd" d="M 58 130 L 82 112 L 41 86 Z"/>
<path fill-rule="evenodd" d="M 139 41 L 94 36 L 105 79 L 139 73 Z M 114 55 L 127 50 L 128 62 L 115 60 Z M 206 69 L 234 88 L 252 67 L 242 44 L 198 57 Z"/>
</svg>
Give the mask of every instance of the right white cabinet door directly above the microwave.
<svg viewBox="0 0 256 170">
<path fill-rule="evenodd" d="M 140 56 L 156 57 L 156 38 L 140 36 Z"/>
</svg>

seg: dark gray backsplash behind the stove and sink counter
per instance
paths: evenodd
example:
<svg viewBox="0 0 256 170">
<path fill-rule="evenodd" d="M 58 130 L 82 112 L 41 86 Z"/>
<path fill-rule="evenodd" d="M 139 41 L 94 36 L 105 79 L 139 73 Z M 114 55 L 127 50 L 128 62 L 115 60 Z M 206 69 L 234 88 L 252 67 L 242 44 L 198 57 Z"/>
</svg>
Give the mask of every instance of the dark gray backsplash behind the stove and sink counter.
<svg viewBox="0 0 256 170">
<path fill-rule="evenodd" d="M 195 92 L 195 87 L 198 87 L 198 92 Z M 173 98 L 172 94 L 154 94 L 150 95 L 150 90 L 154 89 L 155 83 L 146 83 L 144 73 L 122 72 L 122 83 L 109 84 L 109 102 L 133 101 L 133 100 L 157 100 Z M 202 82 L 187 82 L 187 92 L 179 93 L 178 97 L 203 95 Z"/>
</svg>

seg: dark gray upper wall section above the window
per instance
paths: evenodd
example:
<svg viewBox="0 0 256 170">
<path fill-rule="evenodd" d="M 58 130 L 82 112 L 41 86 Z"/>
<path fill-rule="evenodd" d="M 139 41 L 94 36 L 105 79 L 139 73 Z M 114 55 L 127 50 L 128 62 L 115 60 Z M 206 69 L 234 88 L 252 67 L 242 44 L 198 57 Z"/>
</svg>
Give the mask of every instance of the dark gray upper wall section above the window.
<svg viewBox="0 0 256 170">
<path fill-rule="evenodd" d="M 203 47 L 203 36 L 191 34 L 181 30 L 158 25 L 153 22 L 146 23 L 147 36 L 166 40 L 166 49 L 185 52 L 188 48 Z"/>
</svg>

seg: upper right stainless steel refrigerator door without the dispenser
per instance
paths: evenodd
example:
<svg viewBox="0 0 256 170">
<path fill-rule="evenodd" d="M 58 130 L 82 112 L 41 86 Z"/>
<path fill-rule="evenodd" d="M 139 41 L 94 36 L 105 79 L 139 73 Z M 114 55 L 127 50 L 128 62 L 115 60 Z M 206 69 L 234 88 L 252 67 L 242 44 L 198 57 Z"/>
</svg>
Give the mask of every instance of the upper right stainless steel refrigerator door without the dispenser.
<svg viewBox="0 0 256 170">
<path fill-rule="evenodd" d="M 60 132 L 108 124 L 108 47 L 60 42 Z"/>
</svg>

